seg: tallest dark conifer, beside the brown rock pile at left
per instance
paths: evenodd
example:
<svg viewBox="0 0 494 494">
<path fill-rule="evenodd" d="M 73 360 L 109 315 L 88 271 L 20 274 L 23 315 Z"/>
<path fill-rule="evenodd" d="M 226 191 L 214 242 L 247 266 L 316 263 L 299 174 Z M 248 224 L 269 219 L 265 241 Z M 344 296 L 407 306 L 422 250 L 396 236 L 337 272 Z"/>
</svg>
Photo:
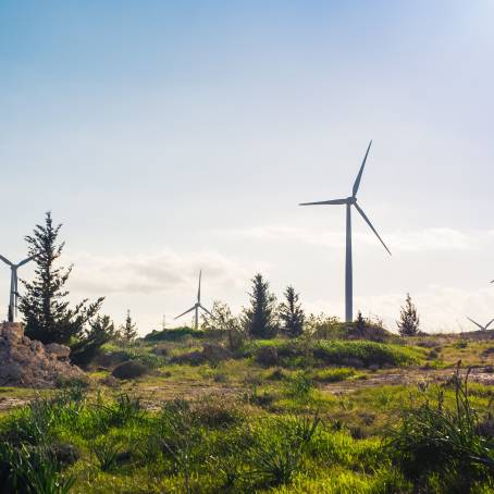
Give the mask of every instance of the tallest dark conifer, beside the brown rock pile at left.
<svg viewBox="0 0 494 494">
<path fill-rule="evenodd" d="M 112 324 L 109 319 L 107 324 L 98 322 L 103 297 L 91 304 L 84 299 L 70 308 L 65 284 L 73 267 L 57 267 L 65 245 L 58 243 L 61 227 L 61 224 L 53 226 L 51 212 L 47 212 L 45 224 L 36 225 L 33 235 L 26 236 L 29 256 L 36 256 L 36 269 L 34 281 L 22 281 L 25 295 L 21 298 L 20 310 L 28 337 L 45 344 L 69 344 L 84 353 L 85 344 L 111 338 Z M 97 338 L 96 331 L 102 332 Z"/>
</svg>

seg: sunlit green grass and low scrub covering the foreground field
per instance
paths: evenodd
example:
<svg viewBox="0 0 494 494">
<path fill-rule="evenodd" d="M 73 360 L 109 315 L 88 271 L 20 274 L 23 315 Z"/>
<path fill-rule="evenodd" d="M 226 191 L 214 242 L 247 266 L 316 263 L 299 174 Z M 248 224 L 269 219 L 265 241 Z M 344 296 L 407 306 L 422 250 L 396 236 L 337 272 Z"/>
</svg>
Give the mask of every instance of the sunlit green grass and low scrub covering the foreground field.
<svg viewBox="0 0 494 494">
<path fill-rule="evenodd" d="M 413 343 L 247 342 L 194 366 L 172 358 L 200 351 L 200 338 L 163 342 L 149 375 L 107 387 L 98 371 L 89 388 L 51 391 L 3 417 L 0 480 L 39 493 L 491 492 L 492 390 L 468 382 L 464 393 L 459 374 L 386 381 L 435 361 L 447 373 L 468 349 L 469 361 L 492 363 L 490 342 Z M 155 358 L 155 346 L 107 351 Z M 261 348 L 276 366 L 258 361 Z M 18 393 L 3 390 L 0 399 Z"/>
</svg>

